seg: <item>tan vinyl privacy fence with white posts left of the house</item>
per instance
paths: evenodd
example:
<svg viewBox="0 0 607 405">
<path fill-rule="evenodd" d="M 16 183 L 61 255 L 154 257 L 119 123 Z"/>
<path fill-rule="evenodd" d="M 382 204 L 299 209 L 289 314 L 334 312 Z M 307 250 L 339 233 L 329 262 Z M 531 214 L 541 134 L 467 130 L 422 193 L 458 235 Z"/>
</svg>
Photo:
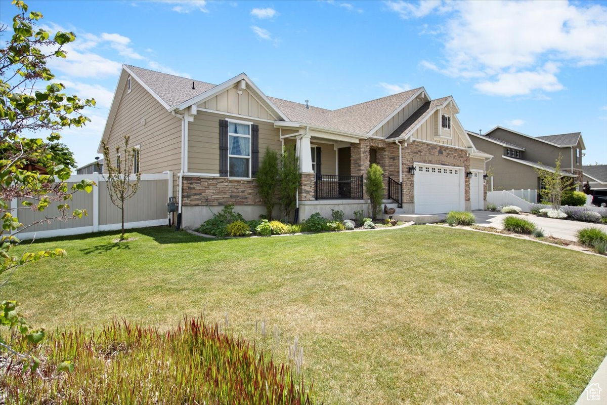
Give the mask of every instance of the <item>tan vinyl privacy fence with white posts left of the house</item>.
<svg viewBox="0 0 607 405">
<path fill-rule="evenodd" d="M 134 179 L 134 175 L 132 179 Z M 73 194 L 68 214 L 73 209 L 86 209 L 87 216 L 78 219 L 52 220 L 38 223 L 22 233 L 19 239 L 38 239 L 43 237 L 77 235 L 83 233 L 114 231 L 121 226 L 120 209 L 112 204 L 107 190 L 107 182 L 101 174 L 73 174 L 66 181 L 68 189 L 74 183 L 82 180 L 92 180 L 97 183 L 93 191 L 78 191 Z M 171 172 L 159 174 L 141 174 L 137 194 L 124 202 L 124 228 L 144 228 L 168 224 L 166 203 L 172 195 Z M 44 211 L 35 211 L 24 207 L 21 200 L 13 200 L 11 208 L 13 215 L 19 217 L 24 225 L 44 220 L 47 217 L 59 216 L 57 205 L 63 202 L 53 202 Z M 21 208 L 23 207 L 23 208 Z"/>
</svg>

